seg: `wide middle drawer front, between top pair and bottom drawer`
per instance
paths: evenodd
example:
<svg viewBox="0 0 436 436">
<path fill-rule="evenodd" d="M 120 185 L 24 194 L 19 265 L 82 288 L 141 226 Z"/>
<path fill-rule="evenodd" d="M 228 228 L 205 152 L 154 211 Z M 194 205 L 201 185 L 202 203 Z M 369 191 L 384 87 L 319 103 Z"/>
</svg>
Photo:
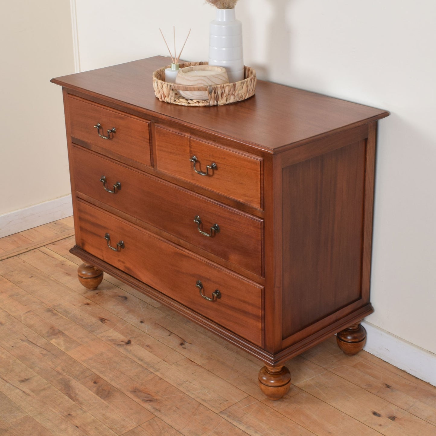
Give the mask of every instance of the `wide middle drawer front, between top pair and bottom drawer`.
<svg viewBox="0 0 436 436">
<path fill-rule="evenodd" d="M 263 220 L 72 147 L 76 191 L 262 276 Z M 106 177 L 105 191 L 100 177 Z M 201 224 L 195 223 L 198 216 Z M 215 224 L 219 231 L 211 230 Z M 198 231 L 210 234 L 205 236 Z"/>
</svg>

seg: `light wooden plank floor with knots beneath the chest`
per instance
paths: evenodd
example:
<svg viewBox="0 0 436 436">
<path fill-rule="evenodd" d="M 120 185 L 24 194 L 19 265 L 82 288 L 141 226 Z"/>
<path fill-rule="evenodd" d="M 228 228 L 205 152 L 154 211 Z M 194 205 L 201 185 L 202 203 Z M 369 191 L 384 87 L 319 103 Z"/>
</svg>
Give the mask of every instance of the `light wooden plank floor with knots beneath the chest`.
<svg viewBox="0 0 436 436">
<path fill-rule="evenodd" d="M 72 225 L 0 239 L 1 435 L 436 435 L 435 387 L 334 337 L 265 399 L 257 359 L 108 275 L 83 288 Z"/>
</svg>

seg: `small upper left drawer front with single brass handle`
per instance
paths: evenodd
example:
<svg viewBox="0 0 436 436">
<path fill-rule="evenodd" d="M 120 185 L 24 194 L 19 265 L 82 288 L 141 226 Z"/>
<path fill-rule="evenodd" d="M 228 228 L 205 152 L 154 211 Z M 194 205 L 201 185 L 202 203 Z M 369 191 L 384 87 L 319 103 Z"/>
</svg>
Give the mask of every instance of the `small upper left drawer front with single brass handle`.
<svg viewBox="0 0 436 436">
<path fill-rule="evenodd" d="M 98 147 L 102 153 L 150 165 L 150 122 L 73 95 L 68 95 L 68 108 L 73 138 Z M 94 127 L 97 123 L 100 129 Z M 108 134 L 112 127 L 115 133 Z"/>
</svg>

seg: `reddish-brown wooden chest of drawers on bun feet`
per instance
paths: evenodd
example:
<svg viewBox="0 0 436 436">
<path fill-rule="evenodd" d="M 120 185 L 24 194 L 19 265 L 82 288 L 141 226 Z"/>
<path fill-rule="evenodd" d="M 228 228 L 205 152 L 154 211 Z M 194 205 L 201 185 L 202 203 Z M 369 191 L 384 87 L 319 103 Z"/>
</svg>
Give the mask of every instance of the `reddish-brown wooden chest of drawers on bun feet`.
<svg viewBox="0 0 436 436">
<path fill-rule="evenodd" d="M 102 271 L 265 363 L 331 334 L 365 342 L 377 120 L 383 110 L 258 82 L 221 107 L 160 102 L 154 57 L 53 79 L 63 87 L 81 283 Z"/>
</svg>

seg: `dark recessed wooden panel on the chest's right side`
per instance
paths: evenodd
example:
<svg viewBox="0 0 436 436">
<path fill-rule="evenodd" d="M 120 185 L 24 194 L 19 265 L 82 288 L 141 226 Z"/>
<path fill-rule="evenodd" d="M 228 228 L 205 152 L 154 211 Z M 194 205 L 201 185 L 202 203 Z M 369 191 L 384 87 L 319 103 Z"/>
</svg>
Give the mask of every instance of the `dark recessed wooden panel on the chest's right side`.
<svg viewBox="0 0 436 436">
<path fill-rule="evenodd" d="M 283 338 L 361 298 L 364 161 L 360 141 L 283 169 Z"/>
</svg>

